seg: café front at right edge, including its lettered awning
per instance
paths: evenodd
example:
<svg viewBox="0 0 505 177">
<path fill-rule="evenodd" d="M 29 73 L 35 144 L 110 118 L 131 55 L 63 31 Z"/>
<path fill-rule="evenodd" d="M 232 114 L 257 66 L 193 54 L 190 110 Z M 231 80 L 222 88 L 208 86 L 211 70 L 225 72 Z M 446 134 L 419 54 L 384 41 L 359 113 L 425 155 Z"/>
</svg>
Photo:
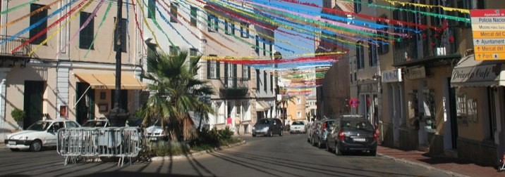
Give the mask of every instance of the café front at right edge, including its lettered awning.
<svg viewBox="0 0 505 177">
<path fill-rule="evenodd" d="M 503 154 L 505 72 L 502 61 L 462 58 L 454 67 L 458 157 L 494 164 Z"/>
</svg>

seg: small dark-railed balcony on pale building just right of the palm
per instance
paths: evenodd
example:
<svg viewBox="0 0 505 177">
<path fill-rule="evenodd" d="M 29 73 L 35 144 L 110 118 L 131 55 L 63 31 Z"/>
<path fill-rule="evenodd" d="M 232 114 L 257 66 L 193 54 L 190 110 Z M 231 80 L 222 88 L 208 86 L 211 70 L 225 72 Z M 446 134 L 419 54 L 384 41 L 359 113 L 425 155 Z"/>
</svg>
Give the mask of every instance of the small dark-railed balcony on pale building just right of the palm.
<svg viewBox="0 0 505 177">
<path fill-rule="evenodd" d="M 221 77 L 219 93 L 224 98 L 243 98 L 249 95 L 249 79 L 241 77 Z"/>
</svg>

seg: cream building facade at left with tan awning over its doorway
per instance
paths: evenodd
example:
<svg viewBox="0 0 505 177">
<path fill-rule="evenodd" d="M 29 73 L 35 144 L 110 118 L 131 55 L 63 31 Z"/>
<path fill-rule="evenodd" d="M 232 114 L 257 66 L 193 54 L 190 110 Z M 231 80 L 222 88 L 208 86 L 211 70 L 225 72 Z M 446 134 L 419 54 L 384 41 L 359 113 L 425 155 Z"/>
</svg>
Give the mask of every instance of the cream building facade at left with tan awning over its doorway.
<svg viewBox="0 0 505 177">
<path fill-rule="evenodd" d="M 2 1 L 1 11 L 23 3 Z M 111 13 L 106 18 L 105 11 L 75 11 L 83 4 L 68 3 L 42 0 L 1 14 L 4 64 L 0 74 L 0 129 L 4 133 L 27 128 L 42 119 L 72 119 L 83 124 L 87 119 L 109 116 L 114 107 L 116 49 L 121 50 L 121 107 L 130 115 L 138 107 L 140 90 L 145 85 L 138 80 L 139 50 L 128 45 L 138 42 L 135 23 L 130 21 L 133 19 L 126 18 L 134 16 L 133 6 L 122 6 L 120 29 L 124 35 L 120 36 L 121 47 L 115 48 L 116 2 L 110 5 Z M 95 7 L 99 2 L 89 4 Z M 106 8 L 109 2 L 102 5 Z M 30 18 L 23 18 L 36 10 Z M 90 18 L 92 15 L 95 18 Z M 104 20 L 101 27 L 99 20 Z M 44 29 L 49 30 L 44 33 Z M 18 46 L 19 50 L 14 51 Z M 13 120 L 14 109 L 25 111 L 23 122 Z"/>
</svg>

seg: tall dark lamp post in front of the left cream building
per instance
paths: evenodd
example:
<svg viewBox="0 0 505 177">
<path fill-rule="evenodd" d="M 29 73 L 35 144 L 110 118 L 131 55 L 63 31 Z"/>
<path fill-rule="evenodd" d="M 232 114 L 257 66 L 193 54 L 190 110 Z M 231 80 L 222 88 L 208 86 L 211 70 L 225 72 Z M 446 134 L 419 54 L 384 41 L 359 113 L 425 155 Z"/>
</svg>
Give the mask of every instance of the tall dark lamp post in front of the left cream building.
<svg viewBox="0 0 505 177">
<path fill-rule="evenodd" d="M 118 9 L 116 17 L 116 37 L 114 45 L 116 46 L 116 88 L 114 90 L 114 108 L 109 113 L 111 126 L 124 126 L 128 113 L 121 108 L 121 23 L 123 20 L 123 0 L 118 0 Z"/>
</svg>

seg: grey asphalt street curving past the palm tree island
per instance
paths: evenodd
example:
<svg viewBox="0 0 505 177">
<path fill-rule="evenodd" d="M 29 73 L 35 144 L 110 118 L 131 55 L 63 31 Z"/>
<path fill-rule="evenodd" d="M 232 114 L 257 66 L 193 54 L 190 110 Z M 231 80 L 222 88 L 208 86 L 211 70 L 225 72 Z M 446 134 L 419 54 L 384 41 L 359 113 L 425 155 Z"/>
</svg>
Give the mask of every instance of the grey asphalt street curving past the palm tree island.
<svg viewBox="0 0 505 177">
<path fill-rule="evenodd" d="M 136 162 L 80 162 L 63 166 L 55 150 L 0 149 L 1 176 L 448 176 L 420 166 L 367 155 L 336 156 L 307 143 L 306 134 L 242 136 L 247 143 L 195 157 Z"/>
</svg>

